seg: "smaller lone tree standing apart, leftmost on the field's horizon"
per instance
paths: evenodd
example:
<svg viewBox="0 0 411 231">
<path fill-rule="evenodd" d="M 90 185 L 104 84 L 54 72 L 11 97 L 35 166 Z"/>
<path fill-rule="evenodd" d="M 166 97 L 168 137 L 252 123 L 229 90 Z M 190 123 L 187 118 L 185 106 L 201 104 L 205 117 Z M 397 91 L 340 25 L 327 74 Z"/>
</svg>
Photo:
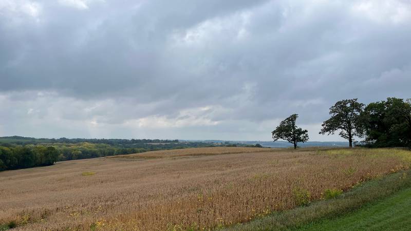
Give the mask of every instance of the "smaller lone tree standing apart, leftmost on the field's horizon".
<svg viewBox="0 0 411 231">
<path fill-rule="evenodd" d="M 274 131 L 271 132 L 274 141 L 279 139 L 286 140 L 294 144 L 294 149 L 297 148 L 297 143 L 305 143 L 308 141 L 308 131 L 303 130 L 295 125 L 298 114 L 292 114 L 287 119 L 283 120 Z"/>
</svg>

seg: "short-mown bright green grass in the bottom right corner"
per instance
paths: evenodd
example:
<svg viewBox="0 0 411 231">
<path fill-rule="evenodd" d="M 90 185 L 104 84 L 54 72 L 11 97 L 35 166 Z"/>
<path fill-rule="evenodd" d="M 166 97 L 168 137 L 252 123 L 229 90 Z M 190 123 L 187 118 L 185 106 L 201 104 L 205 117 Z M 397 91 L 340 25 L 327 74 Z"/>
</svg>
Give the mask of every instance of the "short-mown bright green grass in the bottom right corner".
<svg viewBox="0 0 411 231">
<path fill-rule="evenodd" d="M 301 230 L 411 230 L 411 188 L 354 213 L 303 226 Z"/>
</svg>

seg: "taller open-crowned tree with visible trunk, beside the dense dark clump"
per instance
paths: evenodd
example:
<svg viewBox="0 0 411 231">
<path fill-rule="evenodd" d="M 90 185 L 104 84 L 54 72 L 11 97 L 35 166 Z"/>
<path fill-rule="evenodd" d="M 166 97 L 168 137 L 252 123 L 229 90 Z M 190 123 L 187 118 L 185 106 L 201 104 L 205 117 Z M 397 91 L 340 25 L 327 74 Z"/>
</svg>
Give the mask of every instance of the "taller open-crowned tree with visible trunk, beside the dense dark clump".
<svg viewBox="0 0 411 231">
<path fill-rule="evenodd" d="M 330 107 L 331 118 L 324 121 L 320 134 L 334 134 L 340 130 L 340 136 L 347 139 L 349 146 L 352 147 L 353 137 L 363 136 L 363 127 L 360 123 L 363 108 L 364 104 L 358 103 L 357 99 L 338 101 Z"/>
</svg>

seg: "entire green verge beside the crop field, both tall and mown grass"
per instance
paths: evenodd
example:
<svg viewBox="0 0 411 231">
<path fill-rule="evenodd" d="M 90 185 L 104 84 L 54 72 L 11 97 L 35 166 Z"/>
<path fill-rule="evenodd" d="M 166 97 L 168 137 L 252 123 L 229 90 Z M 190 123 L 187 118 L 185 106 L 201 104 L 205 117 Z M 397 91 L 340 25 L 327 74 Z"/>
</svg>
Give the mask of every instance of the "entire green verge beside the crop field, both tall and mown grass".
<svg viewBox="0 0 411 231">
<path fill-rule="evenodd" d="M 226 230 L 356 230 L 355 225 L 358 225 L 357 230 L 410 230 L 406 224 L 411 215 L 411 199 L 407 198 L 411 196 L 410 176 L 411 170 L 390 174 L 368 181 L 334 199 L 276 212 L 248 223 L 227 227 Z M 402 214 L 408 216 L 407 219 Z M 347 226 L 340 228 L 334 222 L 341 225 L 347 222 Z M 350 222 L 354 226 L 350 226 Z M 367 222 L 376 226 L 362 226 Z"/>
</svg>

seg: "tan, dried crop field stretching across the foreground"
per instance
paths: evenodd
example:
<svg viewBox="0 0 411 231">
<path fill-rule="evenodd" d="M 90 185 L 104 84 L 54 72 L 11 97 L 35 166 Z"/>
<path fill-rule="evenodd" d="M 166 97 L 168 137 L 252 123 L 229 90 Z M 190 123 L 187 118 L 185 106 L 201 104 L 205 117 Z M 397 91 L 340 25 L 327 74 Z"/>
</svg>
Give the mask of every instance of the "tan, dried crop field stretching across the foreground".
<svg viewBox="0 0 411 231">
<path fill-rule="evenodd" d="M 0 172 L 0 225 L 212 229 L 408 169 L 410 160 L 400 149 L 219 147 L 59 162 Z"/>
</svg>

